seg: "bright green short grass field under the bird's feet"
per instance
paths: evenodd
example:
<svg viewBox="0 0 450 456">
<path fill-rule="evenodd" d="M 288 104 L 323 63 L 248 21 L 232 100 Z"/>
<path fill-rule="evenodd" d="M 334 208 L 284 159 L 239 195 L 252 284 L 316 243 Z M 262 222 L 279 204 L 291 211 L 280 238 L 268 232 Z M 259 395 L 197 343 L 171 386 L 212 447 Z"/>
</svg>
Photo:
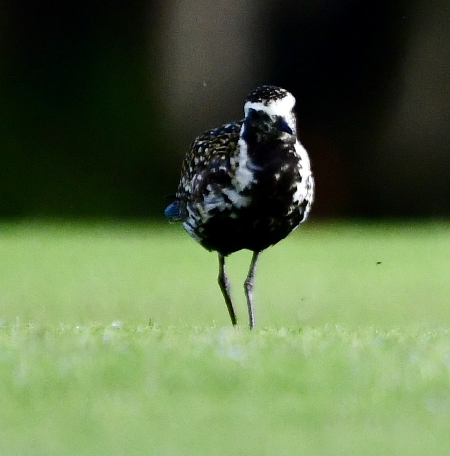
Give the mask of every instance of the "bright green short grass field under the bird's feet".
<svg viewBox="0 0 450 456">
<path fill-rule="evenodd" d="M 179 225 L 0 224 L 1 455 L 450 451 L 449 223 L 310 223 L 229 258 Z"/>
</svg>

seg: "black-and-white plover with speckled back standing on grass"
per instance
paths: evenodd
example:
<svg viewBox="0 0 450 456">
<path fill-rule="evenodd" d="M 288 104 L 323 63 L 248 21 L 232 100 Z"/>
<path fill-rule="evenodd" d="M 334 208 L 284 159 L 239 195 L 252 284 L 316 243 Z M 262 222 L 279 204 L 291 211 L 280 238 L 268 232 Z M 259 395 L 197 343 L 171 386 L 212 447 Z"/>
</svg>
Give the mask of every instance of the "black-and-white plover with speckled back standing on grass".
<svg viewBox="0 0 450 456">
<path fill-rule="evenodd" d="M 295 97 L 272 85 L 254 89 L 244 118 L 208 130 L 191 144 L 173 202 L 165 209 L 219 259 L 218 284 L 233 326 L 236 313 L 225 257 L 253 252 L 244 281 L 250 329 L 260 253 L 303 223 L 314 199 L 308 153 L 297 137 Z"/>
</svg>

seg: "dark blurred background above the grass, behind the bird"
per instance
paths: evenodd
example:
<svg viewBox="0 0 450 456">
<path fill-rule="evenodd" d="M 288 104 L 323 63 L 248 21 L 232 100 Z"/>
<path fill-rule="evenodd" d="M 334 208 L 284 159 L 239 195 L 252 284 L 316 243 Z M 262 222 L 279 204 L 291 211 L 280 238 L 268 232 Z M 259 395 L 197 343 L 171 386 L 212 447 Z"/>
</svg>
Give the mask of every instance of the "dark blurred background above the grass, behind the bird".
<svg viewBox="0 0 450 456">
<path fill-rule="evenodd" d="M 194 137 L 297 98 L 313 217 L 450 215 L 450 3 L 0 3 L 0 217 L 163 217 Z"/>
</svg>

